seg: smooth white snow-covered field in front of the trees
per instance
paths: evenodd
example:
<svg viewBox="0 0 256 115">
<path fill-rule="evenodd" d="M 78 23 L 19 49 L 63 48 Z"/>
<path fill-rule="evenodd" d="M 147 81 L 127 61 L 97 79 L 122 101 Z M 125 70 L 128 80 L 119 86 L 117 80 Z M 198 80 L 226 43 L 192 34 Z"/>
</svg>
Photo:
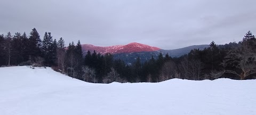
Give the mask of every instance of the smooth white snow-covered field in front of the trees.
<svg viewBox="0 0 256 115">
<path fill-rule="evenodd" d="M 0 68 L 0 114 L 256 114 L 256 80 L 91 84 L 50 68 Z"/>
</svg>

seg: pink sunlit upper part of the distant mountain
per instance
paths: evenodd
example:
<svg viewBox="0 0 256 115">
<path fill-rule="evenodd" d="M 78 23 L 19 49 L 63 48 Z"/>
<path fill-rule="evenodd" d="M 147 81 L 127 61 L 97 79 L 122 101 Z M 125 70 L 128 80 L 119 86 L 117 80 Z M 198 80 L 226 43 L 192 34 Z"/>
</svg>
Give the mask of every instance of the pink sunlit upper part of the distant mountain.
<svg viewBox="0 0 256 115">
<path fill-rule="evenodd" d="M 90 50 L 90 52 L 95 52 L 105 54 L 105 53 L 134 53 L 134 52 L 153 52 L 161 50 L 158 47 L 151 47 L 145 44 L 139 43 L 130 43 L 127 45 L 115 45 L 115 46 L 108 46 L 108 47 L 101 47 L 101 46 L 94 46 L 91 44 L 83 44 L 82 50 L 84 53 Z"/>
</svg>

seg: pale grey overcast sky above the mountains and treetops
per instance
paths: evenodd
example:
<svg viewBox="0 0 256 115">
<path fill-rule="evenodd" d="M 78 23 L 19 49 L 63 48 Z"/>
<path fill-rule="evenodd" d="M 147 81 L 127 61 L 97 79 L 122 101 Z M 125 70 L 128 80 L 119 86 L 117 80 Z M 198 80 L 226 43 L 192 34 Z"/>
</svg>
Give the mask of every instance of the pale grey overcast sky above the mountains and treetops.
<svg viewBox="0 0 256 115">
<path fill-rule="evenodd" d="M 1 0 L 0 34 L 36 28 L 66 45 L 138 42 L 166 50 L 256 34 L 255 0 Z"/>
</svg>

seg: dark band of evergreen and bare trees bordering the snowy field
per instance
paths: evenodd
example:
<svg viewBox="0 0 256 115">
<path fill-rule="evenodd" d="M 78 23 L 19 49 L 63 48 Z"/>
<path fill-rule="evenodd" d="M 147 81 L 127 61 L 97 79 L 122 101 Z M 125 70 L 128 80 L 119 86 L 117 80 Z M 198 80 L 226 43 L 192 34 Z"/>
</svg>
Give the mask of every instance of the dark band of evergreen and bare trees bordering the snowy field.
<svg viewBox="0 0 256 115">
<path fill-rule="evenodd" d="M 256 40 L 248 31 L 239 43 L 216 45 L 210 43 L 204 50 L 194 49 L 186 55 L 171 57 L 159 53 L 141 63 L 140 57 L 131 65 L 114 60 L 110 53 L 88 51 L 83 55 L 78 41 L 65 46 L 63 38 L 53 39 L 45 32 L 43 39 L 34 28 L 27 36 L 24 32 L 0 35 L 0 66 L 30 65 L 52 67 L 72 78 L 91 83 L 160 82 L 172 78 L 204 79 L 255 79 Z"/>
</svg>

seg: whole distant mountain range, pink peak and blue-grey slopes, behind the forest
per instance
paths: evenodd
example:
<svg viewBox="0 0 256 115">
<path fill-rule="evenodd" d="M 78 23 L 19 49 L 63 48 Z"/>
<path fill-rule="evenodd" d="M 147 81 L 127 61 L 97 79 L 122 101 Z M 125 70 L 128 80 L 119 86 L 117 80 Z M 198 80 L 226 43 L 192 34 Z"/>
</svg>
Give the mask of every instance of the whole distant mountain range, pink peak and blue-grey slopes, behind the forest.
<svg viewBox="0 0 256 115">
<path fill-rule="evenodd" d="M 140 57 L 141 62 L 150 60 L 151 56 L 157 58 L 159 53 L 168 53 L 171 57 L 179 57 L 184 54 L 188 54 L 193 49 L 203 50 L 204 48 L 210 47 L 209 45 L 193 45 L 188 47 L 183 47 L 174 50 L 163 50 L 158 47 L 153 47 L 140 43 L 130 43 L 127 45 L 115 45 L 108 47 L 94 46 L 91 44 L 83 44 L 82 50 L 83 54 L 86 55 L 87 51 L 101 53 L 111 53 L 114 54 L 115 59 L 121 59 L 127 64 L 133 63 L 137 57 Z"/>
</svg>

